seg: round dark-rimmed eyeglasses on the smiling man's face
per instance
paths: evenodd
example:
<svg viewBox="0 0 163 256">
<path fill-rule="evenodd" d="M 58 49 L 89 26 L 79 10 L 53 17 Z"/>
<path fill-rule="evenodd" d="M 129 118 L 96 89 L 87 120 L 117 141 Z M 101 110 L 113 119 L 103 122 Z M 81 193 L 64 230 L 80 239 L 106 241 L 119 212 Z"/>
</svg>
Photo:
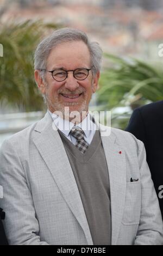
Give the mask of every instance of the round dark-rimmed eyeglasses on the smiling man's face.
<svg viewBox="0 0 163 256">
<path fill-rule="evenodd" d="M 89 75 L 90 70 L 91 69 L 83 68 L 83 69 L 75 69 L 75 70 L 56 69 L 56 70 L 52 70 L 52 71 L 48 71 L 48 70 L 47 71 L 52 73 L 52 76 L 55 81 L 62 82 L 64 80 L 66 80 L 66 78 L 68 76 L 68 72 L 73 72 L 73 76 L 77 80 L 85 80 L 85 78 Z"/>
</svg>

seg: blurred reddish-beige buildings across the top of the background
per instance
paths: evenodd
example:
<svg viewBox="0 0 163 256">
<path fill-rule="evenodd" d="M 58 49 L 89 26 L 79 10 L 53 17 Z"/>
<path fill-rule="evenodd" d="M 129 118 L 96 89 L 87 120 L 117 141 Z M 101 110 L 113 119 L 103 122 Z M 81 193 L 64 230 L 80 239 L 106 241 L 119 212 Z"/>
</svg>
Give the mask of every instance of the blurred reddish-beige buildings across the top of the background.
<svg viewBox="0 0 163 256">
<path fill-rule="evenodd" d="M 42 19 L 82 29 L 104 51 L 158 59 L 163 0 L 1 0 L 0 20 Z M 1 43 L 1 41 L 0 41 Z"/>
</svg>

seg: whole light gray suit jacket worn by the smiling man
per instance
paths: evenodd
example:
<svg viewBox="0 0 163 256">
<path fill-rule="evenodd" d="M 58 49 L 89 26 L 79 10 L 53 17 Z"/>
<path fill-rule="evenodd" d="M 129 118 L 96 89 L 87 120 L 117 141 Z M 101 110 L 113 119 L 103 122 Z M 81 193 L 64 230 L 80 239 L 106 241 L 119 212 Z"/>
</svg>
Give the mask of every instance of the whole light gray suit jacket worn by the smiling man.
<svg viewBox="0 0 163 256">
<path fill-rule="evenodd" d="M 101 135 L 109 129 L 99 127 Z M 163 244 L 143 143 L 117 129 L 101 138 L 110 179 L 111 244 Z M 76 180 L 48 112 L 3 143 L 0 163 L 1 207 L 10 245 L 92 245 Z"/>
</svg>

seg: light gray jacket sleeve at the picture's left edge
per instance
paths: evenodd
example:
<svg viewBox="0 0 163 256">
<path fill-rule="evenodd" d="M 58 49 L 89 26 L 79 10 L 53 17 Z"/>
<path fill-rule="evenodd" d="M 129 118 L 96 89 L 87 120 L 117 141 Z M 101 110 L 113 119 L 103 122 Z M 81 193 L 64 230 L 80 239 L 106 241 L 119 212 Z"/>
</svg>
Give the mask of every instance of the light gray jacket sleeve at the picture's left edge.
<svg viewBox="0 0 163 256">
<path fill-rule="evenodd" d="M 4 229 L 9 245 L 47 245 L 40 241 L 32 194 L 21 161 L 9 141 L 0 149 L 0 185 L 4 198 Z"/>
</svg>

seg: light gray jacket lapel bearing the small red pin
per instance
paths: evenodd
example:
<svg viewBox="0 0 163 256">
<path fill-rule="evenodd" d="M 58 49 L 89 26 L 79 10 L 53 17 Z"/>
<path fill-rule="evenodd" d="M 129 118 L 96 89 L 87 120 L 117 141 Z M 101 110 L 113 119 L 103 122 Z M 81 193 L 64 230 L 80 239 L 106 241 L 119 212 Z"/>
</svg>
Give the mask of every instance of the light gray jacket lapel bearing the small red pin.
<svg viewBox="0 0 163 256">
<path fill-rule="evenodd" d="M 104 129 L 106 130 L 106 126 L 100 125 L 100 131 Z M 116 137 L 113 132 L 110 136 L 102 136 L 101 132 L 101 139 L 110 180 L 111 244 L 116 245 L 126 197 L 126 159 L 123 148 L 115 143 Z"/>
</svg>

